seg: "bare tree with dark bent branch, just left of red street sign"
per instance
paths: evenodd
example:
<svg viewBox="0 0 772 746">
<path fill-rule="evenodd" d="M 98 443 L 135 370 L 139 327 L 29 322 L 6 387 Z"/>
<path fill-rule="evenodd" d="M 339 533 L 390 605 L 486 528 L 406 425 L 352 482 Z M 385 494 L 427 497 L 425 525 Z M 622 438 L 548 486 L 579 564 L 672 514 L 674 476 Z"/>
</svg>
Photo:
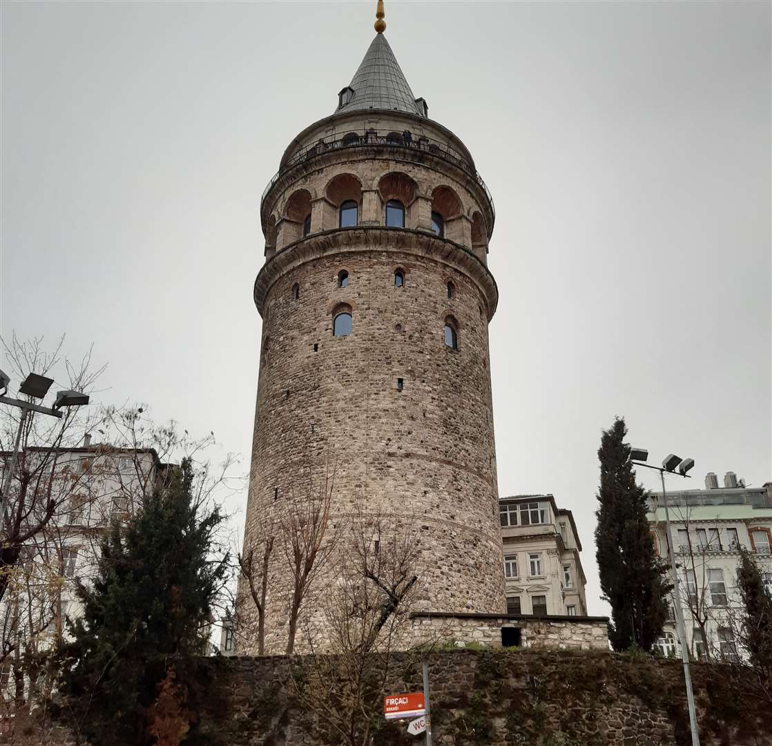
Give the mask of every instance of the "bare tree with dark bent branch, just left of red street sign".
<svg viewBox="0 0 772 746">
<path fill-rule="evenodd" d="M 384 685 L 393 653 L 409 665 L 409 612 L 415 599 L 420 545 L 409 524 L 367 516 L 351 518 L 341 541 L 340 577 L 321 605 L 324 635 L 306 629 L 310 656 L 293 660 L 296 697 L 329 734 L 367 746 L 382 720 Z"/>
</svg>

